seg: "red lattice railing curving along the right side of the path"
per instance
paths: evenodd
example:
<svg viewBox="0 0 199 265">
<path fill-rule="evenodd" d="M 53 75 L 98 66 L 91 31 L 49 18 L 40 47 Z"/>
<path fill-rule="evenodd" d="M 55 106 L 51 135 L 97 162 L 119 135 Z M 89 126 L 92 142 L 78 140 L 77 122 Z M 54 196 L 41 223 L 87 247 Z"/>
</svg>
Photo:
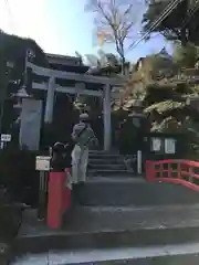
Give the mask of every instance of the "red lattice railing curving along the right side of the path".
<svg viewBox="0 0 199 265">
<path fill-rule="evenodd" d="M 182 184 L 193 191 L 199 191 L 199 162 L 168 159 L 146 161 L 147 181 L 165 181 Z"/>
</svg>

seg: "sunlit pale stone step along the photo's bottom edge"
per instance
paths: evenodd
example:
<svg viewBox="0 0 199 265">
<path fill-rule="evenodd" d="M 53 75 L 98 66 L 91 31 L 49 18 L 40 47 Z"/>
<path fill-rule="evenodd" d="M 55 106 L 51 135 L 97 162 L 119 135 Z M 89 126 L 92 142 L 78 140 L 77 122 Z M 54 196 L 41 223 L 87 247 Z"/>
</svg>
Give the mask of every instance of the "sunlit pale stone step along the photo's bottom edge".
<svg viewBox="0 0 199 265">
<path fill-rule="evenodd" d="M 199 243 L 149 247 L 114 247 L 111 250 L 71 250 L 18 257 L 12 265 L 198 265 Z"/>
</svg>

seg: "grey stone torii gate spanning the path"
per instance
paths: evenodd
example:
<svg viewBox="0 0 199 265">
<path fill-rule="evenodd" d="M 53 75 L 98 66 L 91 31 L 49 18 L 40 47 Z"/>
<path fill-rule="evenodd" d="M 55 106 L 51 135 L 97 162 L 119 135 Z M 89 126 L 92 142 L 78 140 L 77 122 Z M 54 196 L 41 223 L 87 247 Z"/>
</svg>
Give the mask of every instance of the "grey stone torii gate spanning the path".
<svg viewBox="0 0 199 265">
<path fill-rule="evenodd" d="M 92 76 L 88 74 L 77 74 L 71 72 L 62 72 L 51 68 L 44 68 L 36 66 L 32 63 L 28 63 L 28 67 L 32 70 L 35 75 L 49 77 L 46 83 L 33 83 L 33 89 L 48 91 L 44 121 L 52 123 L 53 106 L 54 106 L 54 93 L 67 93 L 67 94 L 81 94 L 87 96 L 95 96 L 103 98 L 103 116 L 104 116 L 104 150 L 109 150 L 112 146 L 112 120 L 111 120 L 111 100 L 112 100 L 112 87 L 122 87 L 124 84 L 121 77 L 105 77 L 105 76 Z M 59 86 L 56 78 L 75 81 L 75 87 Z M 103 91 L 85 89 L 84 84 L 102 84 Z"/>
</svg>

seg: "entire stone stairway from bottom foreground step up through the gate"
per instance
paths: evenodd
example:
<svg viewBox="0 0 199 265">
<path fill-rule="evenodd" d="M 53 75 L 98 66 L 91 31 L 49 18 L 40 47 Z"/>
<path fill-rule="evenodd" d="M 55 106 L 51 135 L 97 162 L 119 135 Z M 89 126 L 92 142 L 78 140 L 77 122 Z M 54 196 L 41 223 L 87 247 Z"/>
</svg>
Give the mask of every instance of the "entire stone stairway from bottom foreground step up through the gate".
<svg viewBox="0 0 199 265">
<path fill-rule="evenodd" d="M 90 176 L 61 230 L 24 212 L 14 265 L 199 264 L 197 192 L 132 178 L 116 152 L 92 151 Z"/>
</svg>

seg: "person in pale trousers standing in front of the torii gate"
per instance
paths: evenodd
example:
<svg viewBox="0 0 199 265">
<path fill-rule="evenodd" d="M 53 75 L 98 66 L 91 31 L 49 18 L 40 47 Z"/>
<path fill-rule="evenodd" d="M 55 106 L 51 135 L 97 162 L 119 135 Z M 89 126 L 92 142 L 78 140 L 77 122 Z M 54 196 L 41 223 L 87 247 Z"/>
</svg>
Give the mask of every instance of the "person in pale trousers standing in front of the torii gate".
<svg viewBox="0 0 199 265">
<path fill-rule="evenodd" d="M 72 184 L 74 192 L 80 193 L 80 187 L 86 181 L 88 149 L 98 144 L 86 113 L 80 115 L 80 123 L 73 127 L 72 139 L 75 142 L 72 151 Z"/>
</svg>

